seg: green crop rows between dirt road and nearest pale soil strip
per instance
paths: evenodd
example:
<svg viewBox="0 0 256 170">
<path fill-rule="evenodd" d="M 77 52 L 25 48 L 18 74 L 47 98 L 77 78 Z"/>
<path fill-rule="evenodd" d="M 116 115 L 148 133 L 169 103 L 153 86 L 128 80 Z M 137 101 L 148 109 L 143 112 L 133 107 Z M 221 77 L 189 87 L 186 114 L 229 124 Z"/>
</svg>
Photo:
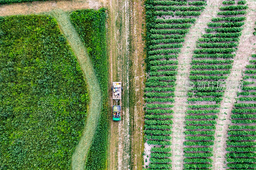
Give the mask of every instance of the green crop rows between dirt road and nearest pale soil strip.
<svg viewBox="0 0 256 170">
<path fill-rule="evenodd" d="M 172 144 L 177 53 L 205 4 L 204 0 L 146 1 L 146 63 L 149 77 L 144 89 L 147 102 L 144 133 L 147 143 L 156 145 L 152 147 L 149 158 L 151 170 L 172 167 L 169 146 Z"/>
</svg>

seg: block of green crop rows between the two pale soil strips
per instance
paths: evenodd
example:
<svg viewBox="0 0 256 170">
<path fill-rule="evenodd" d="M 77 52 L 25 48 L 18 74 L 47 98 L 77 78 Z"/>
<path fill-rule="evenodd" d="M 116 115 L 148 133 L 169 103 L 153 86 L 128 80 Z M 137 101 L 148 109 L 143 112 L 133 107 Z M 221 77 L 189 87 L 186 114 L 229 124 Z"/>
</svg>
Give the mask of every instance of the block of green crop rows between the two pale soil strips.
<svg viewBox="0 0 256 170">
<path fill-rule="evenodd" d="M 189 78 L 193 88 L 188 92 L 184 169 L 212 167 L 213 152 L 209 148 L 214 144 L 215 124 L 220 112 L 220 104 L 217 103 L 222 101 L 226 89 L 225 79 L 232 68 L 232 58 L 235 57 L 234 52 L 243 29 L 241 26 L 246 19 L 243 14 L 248 8 L 241 1 L 223 1 L 223 4 L 225 5 L 220 7 L 218 17 L 212 18 L 212 22 L 207 24 L 209 28 L 205 29 L 206 34 L 198 39 L 191 62 Z M 238 119 L 233 121 L 242 123 Z M 230 140 L 233 142 L 235 139 Z M 228 145 L 236 144 L 232 142 Z M 190 150 L 191 148 L 195 150 Z M 236 159 L 228 158 L 227 161 L 234 162 Z M 231 165 L 229 167 L 235 167 L 234 164 Z"/>
</svg>

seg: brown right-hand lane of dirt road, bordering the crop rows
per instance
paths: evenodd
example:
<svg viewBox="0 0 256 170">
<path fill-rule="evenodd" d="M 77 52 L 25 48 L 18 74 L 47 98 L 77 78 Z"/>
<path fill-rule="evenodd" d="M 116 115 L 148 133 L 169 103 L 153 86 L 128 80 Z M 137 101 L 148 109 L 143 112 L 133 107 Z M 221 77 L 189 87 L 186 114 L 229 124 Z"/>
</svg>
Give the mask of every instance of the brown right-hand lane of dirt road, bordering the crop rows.
<svg viewBox="0 0 256 170">
<path fill-rule="evenodd" d="M 142 169 L 142 153 L 144 151 L 143 143 L 143 127 L 144 127 L 144 81 L 146 79 L 145 74 L 145 62 L 146 53 L 143 50 L 145 47 L 145 41 L 142 40 L 142 35 L 145 34 L 145 9 L 144 0 L 134 0 L 131 3 L 132 19 L 131 19 L 131 105 L 130 105 L 130 117 L 131 117 L 131 169 Z"/>
</svg>

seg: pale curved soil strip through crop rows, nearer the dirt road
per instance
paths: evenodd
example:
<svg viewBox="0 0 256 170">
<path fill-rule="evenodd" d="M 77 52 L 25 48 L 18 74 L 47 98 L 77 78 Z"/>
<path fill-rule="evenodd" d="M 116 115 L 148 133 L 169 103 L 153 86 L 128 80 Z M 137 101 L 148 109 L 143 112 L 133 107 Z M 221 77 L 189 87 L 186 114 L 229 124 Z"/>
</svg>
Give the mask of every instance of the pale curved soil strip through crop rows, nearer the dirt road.
<svg viewBox="0 0 256 170">
<path fill-rule="evenodd" d="M 183 169 L 183 142 L 185 141 L 185 115 L 188 106 L 187 103 L 187 84 L 189 80 L 190 62 L 192 60 L 193 51 L 196 48 L 196 41 L 204 33 L 204 28 L 210 22 L 212 16 L 217 13 L 218 1 L 209 0 L 204 11 L 196 19 L 194 26 L 190 28 L 189 33 L 185 37 L 185 43 L 180 49 L 178 57 L 178 73 L 176 80 L 175 103 L 173 113 L 173 132 L 172 132 L 172 169 Z"/>
</svg>

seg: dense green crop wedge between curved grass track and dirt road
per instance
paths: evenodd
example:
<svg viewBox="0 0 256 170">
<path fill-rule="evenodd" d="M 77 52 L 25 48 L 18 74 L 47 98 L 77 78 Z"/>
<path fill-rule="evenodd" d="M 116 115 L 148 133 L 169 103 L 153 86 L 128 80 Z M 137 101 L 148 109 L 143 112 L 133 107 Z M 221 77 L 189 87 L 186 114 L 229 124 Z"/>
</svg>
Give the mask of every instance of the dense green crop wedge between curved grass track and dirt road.
<svg viewBox="0 0 256 170">
<path fill-rule="evenodd" d="M 105 9 L 78 10 L 71 14 L 71 22 L 84 41 L 102 90 L 102 110 L 85 169 L 105 169 L 108 137 L 108 58 L 106 53 Z"/>
</svg>

